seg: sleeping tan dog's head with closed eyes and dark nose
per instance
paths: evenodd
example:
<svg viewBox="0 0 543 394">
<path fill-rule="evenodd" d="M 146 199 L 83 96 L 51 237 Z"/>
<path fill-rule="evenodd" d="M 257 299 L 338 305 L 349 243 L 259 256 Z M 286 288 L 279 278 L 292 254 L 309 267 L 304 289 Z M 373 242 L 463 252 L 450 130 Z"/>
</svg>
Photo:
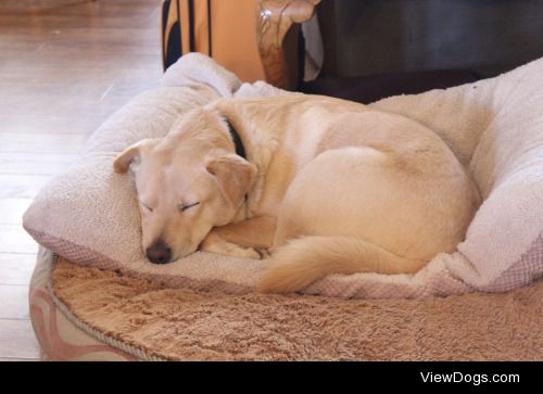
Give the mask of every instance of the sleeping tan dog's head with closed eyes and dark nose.
<svg viewBox="0 0 543 394">
<path fill-rule="evenodd" d="M 115 171 L 135 179 L 142 247 L 152 263 L 194 252 L 213 227 L 232 220 L 256 174 L 233 151 L 225 120 L 202 109 L 165 138 L 139 141 L 115 158 Z"/>
</svg>

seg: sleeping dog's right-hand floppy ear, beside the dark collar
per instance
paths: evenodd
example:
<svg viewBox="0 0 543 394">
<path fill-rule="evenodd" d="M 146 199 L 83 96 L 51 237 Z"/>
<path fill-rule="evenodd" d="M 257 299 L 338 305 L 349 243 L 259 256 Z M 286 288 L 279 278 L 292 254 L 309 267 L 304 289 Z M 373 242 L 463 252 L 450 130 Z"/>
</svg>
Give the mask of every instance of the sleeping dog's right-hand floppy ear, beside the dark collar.
<svg viewBox="0 0 543 394">
<path fill-rule="evenodd" d="M 256 176 L 256 167 L 236 154 L 215 158 L 206 168 L 217 178 L 222 193 L 233 207 L 243 202 Z"/>
</svg>

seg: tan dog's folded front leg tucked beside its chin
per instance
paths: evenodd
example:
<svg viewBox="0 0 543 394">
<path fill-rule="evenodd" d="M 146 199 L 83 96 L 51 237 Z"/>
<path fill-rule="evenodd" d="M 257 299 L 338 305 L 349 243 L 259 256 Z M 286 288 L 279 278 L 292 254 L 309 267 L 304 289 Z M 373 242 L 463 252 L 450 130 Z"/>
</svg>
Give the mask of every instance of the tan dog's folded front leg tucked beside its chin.
<svg viewBox="0 0 543 394">
<path fill-rule="evenodd" d="M 231 225 L 215 227 L 200 250 L 238 257 L 264 258 L 274 242 L 277 218 L 260 216 Z"/>
</svg>

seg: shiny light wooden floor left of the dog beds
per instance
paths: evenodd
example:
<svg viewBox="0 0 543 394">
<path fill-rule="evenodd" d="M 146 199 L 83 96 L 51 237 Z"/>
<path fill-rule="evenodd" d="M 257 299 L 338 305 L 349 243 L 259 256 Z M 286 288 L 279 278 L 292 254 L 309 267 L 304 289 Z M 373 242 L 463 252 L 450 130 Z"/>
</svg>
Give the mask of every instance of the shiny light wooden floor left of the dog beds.
<svg viewBox="0 0 543 394">
<path fill-rule="evenodd" d="M 0 360 L 37 359 L 21 216 L 88 136 L 162 75 L 160 0 L 0 1 Z"/>
</svg>

